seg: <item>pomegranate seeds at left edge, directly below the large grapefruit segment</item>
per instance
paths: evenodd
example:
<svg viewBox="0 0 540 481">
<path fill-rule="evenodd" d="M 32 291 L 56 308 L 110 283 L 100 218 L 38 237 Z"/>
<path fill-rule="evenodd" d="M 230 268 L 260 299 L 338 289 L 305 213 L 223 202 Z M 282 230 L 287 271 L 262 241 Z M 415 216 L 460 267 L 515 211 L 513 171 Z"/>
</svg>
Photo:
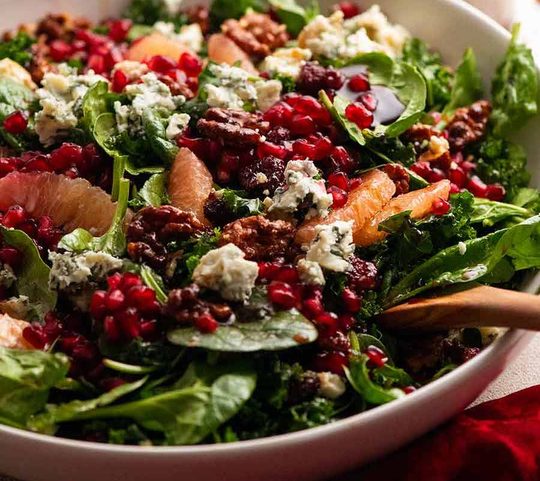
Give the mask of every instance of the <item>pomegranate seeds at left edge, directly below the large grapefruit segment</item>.
<svg viewBox="0 0 540 481">
<path fill-rule="evenodd" d="M 63 236 L 62 230 L 54 226 L 50 217 L 31 217 L 20 205 L 13 205 L 5 212 L 0 212 L 0 224 L 25 232 L 36 243 L 40 254 L 44 257 L 48 250 L 56 249 L 58 241 Z M 11 252 L 10 248 L 5 249 Z"/>
</svg>

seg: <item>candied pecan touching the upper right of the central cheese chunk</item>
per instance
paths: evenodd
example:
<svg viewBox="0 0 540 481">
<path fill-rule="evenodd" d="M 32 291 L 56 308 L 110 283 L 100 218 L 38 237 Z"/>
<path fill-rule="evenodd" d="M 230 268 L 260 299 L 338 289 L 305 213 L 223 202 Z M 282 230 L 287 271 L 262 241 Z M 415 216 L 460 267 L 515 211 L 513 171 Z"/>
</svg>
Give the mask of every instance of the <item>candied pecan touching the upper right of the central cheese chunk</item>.
<svg viewBox="0 0 540 481">
<path fill-rule="evenodd" d="M 275 261 L 289 257 L 294 233 L 289 222 L 257 215 L 226 225 L 219 245 L 235 244 L 245 252 L 246 259 Z"/>
</svg>

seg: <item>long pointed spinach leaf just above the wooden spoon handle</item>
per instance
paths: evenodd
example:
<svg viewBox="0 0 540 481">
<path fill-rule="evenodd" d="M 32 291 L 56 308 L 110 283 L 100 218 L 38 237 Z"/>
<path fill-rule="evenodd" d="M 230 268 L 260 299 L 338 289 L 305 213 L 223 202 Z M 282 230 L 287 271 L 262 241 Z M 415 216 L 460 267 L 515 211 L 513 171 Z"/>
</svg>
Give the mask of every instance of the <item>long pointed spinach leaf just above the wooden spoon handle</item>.
<svg viewBox="0 0 540 481">
<path fill-rule="evenodd" d="M 435 287 L 501 282 L 494 273 L 540 267 L 540 215 L 484 237 L 449 247 L 407 274 L 385 299 L 394 305 Z"/>
</svg>

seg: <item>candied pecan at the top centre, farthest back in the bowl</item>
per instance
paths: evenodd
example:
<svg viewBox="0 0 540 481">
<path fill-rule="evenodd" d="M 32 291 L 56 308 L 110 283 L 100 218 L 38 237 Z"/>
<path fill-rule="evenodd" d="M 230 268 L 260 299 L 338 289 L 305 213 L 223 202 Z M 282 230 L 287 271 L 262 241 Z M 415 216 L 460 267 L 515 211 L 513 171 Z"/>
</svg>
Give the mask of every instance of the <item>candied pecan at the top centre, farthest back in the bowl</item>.
<svg viewBox="0 0 540 481">
<path fill-rule="evenodd" d="M 286 26 L 274 22 L 264 13 L 250 12 L 240 20 L 226 20 L 221 30 L 242 50 L 259 58 L 283 47 L 289 39 Z"/>
</svg>

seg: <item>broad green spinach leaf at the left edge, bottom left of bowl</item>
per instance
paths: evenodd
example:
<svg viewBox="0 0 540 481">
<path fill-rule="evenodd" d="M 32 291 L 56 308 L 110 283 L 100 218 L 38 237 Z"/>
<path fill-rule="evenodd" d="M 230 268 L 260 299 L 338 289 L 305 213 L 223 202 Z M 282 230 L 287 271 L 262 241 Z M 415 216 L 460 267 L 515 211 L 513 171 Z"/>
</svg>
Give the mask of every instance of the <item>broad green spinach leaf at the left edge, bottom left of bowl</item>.
<svg viewBox="0 0 540 481">
<path fill-rule="evenodd" d="M 0 347 L 0 422 L 24 427 L 45 407 L 49 390 L 65 379 L 68 368 L 64 354 Z"/>
</svg>

